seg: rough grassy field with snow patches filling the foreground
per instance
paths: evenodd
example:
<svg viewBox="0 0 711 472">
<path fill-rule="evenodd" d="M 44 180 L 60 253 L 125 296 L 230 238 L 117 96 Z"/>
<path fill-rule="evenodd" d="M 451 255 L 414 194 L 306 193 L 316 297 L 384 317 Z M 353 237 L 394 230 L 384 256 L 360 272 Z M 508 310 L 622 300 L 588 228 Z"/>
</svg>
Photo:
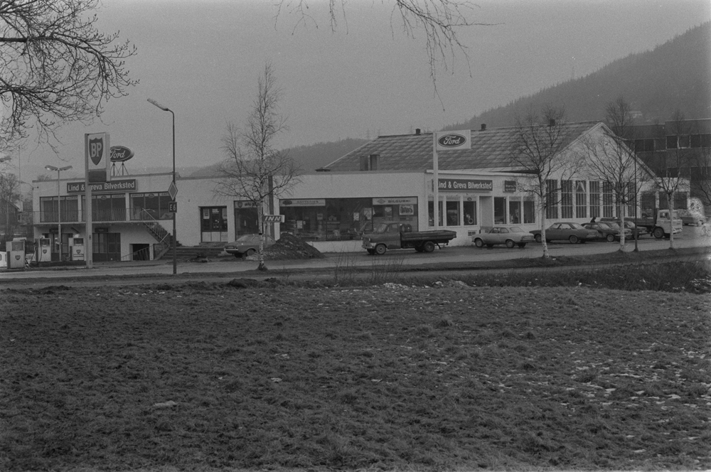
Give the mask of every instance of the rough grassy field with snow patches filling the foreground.
<svg viewBox="0 0 711 472">
<path fill-rule="evenodd" d="M 6 289 L 0 470 L 711 468 L 707 266 L 604 270 Z"/>
</svg>

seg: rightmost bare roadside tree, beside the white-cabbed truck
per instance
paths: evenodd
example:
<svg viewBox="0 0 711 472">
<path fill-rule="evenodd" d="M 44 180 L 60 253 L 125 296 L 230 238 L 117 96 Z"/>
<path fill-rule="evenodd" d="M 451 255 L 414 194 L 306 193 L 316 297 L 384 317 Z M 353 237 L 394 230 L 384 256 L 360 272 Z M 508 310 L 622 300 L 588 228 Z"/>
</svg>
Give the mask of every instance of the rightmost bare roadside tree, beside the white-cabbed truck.
<svg viewBox="0 0 711 472">
<path fill-rule="evenodd" d="M 689 171 L 694 163 L 694 151 L 689 142 L 692 134 L 691 125 L 684 119 L 684 114 L 676 111 L 670 120 L 670 134 L 667 134 L 666 150 L 655 152 L 647 165 L 651 169 L 650 178 L 658 191 L 663 193 L 669 207 L 671 227 L 669 247 L 674 249 L 674 196 L 688 190 Z"/>
</svg>

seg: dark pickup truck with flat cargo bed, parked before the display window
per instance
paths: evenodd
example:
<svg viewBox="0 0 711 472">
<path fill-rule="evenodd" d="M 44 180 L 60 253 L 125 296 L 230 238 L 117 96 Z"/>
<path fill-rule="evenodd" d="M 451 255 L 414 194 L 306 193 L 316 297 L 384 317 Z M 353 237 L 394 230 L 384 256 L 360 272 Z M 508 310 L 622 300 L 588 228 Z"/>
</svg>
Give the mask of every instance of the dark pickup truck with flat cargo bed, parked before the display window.
<svg viewBox="0 0 711 472">
<path fill-rule="evenodd" d="M 412 226 L 398 222 L 383 222 L 373 232 L 363 235 L 363 248 L 368 254 L 383 255 L 389 249 L 414 247 L 417 252 L 432 252 L 434 247 L 448 245 L 456 237 L 449 230 L 412 231 Z"/>
</svg>

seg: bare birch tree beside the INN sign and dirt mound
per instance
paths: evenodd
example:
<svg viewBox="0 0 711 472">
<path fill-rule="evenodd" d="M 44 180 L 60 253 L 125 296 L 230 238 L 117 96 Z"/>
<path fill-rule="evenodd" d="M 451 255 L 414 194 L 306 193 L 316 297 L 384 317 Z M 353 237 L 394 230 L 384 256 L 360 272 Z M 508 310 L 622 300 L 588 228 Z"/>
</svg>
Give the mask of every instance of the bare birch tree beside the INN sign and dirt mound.
<svg viewBox="0 0 711 472">
<path fill-rule="evenodd" d="M 215 192 L 241 198 L 257 208 L 260 228 L 260 270 L 264 264 L 264 214 L 269 203 L 297 183 L 299 168 L 287 154 L 274 148 L 274 140 L 287 131 L 286 119 L 279 112 L 282 91 L 272 65 L 265 65 L 257 81 L 257 97 L 247 117 L 245 129 L 229 123 L 223 138 L 228 158 L 220 166 L 223 176 Z"/>
</svg>

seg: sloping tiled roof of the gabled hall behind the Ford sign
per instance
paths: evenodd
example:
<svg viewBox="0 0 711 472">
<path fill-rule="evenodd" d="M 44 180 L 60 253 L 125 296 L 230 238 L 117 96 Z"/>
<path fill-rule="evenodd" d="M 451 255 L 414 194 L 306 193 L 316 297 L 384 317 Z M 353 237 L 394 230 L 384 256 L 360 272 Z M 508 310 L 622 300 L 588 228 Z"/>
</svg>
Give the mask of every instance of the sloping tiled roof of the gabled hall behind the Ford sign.
<svg viewBox="0 0 711 472">
<path fill-rule="evenodd" d="M 562 127 L 564 147 L 594 128 L 599 122 L 567 123 Z M 517 148 L 516 128 L 471 131 L 471 149 L 439 151 L 440 171 L 477 169 L 520 170 L 511 156 Z M 324 166 L 330 171 L 360 171 L 360 158 L 378 154 L 378 171 L 425 171 L 432 168 L 432 133 L 379 136 L 355 151 Z"/>
</svg>

